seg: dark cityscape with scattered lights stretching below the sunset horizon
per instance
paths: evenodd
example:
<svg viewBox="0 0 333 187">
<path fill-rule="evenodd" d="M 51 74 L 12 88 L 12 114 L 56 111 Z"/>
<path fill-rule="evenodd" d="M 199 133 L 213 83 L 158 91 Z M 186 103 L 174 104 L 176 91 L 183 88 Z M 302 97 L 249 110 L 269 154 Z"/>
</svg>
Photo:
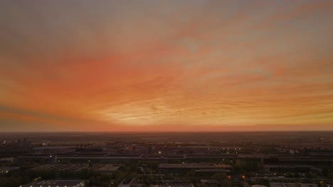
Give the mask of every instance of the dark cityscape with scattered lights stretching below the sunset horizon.
<svg viewBox="0 0 333 187">
<path fill-rule="evenodd" d="M 0 186 L 329 187 L 333 181 L 332 132 L 22 132 L 1 133 L 0 141 Z"/>
</svg>

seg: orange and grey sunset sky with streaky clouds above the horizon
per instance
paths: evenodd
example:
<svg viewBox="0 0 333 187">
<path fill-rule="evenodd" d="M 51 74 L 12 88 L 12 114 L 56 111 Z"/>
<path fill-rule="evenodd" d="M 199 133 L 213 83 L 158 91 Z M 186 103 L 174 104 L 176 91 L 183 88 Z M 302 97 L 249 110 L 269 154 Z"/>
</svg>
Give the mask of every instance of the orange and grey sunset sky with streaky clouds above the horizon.
<svg viewBox="0 0 333 187">
<path fill-rule="evenodd" d="M 0 132 L 333 130 L 333 1 L 0 1 Z"/>
</svg>

